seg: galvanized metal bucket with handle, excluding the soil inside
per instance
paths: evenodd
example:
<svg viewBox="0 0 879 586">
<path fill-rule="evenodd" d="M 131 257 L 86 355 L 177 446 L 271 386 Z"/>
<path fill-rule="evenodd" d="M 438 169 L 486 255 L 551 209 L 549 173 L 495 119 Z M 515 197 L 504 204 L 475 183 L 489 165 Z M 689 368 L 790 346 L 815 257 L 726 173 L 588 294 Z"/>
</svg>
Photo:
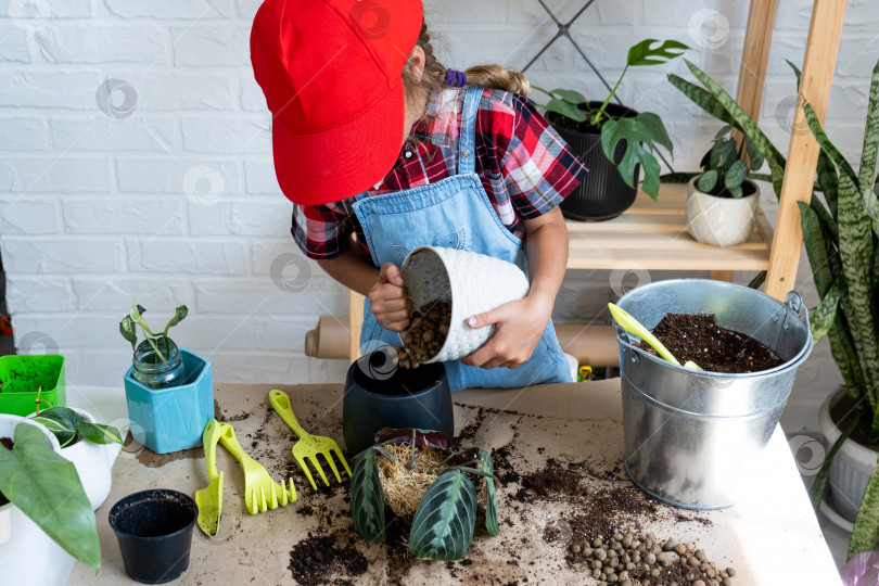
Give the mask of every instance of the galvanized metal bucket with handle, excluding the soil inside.
<svg viewBox="0 0 879 586">
<path fill-rule="evenodd" d="M 665 314 L 714 314 L 718 326 L 750 335 L 784 360 L 762 372 L 697 371 L 636 347 L 636 336 L 616 329 L 629 477 L 671 505 L 729 507 L 736 481 L 769 441 L 812 352 L 802 298 L 790 292 L 781 303 L 732 283 L 675 279 L 634 289 L 617 305 L 649 330 Z"/>
</svg>

